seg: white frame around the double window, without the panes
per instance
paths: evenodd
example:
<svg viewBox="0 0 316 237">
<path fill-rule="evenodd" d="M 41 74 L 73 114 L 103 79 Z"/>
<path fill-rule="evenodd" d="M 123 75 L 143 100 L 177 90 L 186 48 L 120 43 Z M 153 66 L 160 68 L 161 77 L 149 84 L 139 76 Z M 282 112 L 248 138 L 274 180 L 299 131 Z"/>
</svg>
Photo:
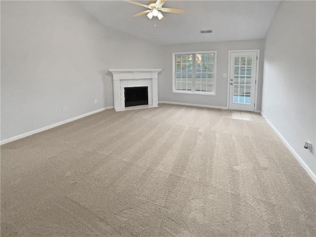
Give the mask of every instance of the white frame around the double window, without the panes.
<svg viewBox="0 0 316 237">
<path fill-rule="evenodd" d="M 179 55 L 179 54 L 203 54 L 203 53 L 214 53 L 213 92 L 203 92 L 203 91 L 195 91 L 195 90 L 192 90 L 192 91 L 176 90 L 176 77 L 175 77 L 175 75 L 176 75 L 176 55 Z M 172 93 L 195 94 L 195 95 L 216 95 L 216 69 L 217 69 L 217 50 L 172 53 Z M 192 73 L 192 76 L 193 76 L 192 77 L 192 88 L 195 88 L 195 72 Z"/>
</svg>

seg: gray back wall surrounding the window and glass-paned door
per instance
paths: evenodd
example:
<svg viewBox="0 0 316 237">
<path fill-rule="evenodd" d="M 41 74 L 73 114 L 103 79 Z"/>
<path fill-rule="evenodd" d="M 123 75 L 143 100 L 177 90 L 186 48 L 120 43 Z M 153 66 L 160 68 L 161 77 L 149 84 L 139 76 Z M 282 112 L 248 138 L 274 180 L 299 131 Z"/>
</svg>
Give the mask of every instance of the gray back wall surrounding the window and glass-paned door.
<svg viewBox="0 0 316 237">
<path fill-rule="evenodd" d="M 260 110 L 263 72 L 263 48 L 264 40 L 240 40 L 228 42 L 165 45 L 163 48 L 162 73 L 160 78 L 158 79 L 159 101 L 227 107 L 228 77 L 224 78 L 223 73 L 228 73 L 228 51 L 260 49 L 257 104 L 257 110 Z M 209 50 L 217 50 L 216 95 L 190 95 L 172 93 L 172 53 Z"/>
</svg>

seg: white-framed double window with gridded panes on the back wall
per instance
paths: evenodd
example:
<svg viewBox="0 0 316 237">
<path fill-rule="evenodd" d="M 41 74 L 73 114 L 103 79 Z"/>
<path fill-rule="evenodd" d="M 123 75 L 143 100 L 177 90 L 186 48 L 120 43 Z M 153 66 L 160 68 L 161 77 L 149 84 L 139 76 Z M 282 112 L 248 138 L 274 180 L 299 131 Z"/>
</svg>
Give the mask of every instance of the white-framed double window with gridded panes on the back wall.
<svg viewBox="0 0 316 237">
<path fill-rule="evenodd" d="M 212 94 L 216 85 L 216 51 L 173 53 L 173 92 Z"/>
</svg>

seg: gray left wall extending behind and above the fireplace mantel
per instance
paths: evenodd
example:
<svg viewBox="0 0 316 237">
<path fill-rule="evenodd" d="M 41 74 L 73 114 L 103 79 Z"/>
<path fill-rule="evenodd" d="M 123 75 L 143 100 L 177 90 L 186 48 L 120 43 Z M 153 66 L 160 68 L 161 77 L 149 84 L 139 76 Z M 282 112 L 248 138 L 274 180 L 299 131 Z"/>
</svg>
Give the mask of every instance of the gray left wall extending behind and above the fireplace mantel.
<svg viewBox="0 0 316 237">
<path fill-rule="evenodd" d="M 108 69 L 157 68 L 159 49 L 75 1 L 1 1 L 1 140 L 113 106 Z"/>
</svg>

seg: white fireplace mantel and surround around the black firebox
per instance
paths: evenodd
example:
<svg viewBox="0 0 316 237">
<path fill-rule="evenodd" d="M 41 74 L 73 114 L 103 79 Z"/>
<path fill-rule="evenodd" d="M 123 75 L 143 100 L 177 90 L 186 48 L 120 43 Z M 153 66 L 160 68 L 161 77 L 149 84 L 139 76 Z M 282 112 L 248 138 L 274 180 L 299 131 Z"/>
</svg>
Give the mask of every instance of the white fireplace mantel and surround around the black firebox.
<svg viewBox="0 0 316 237">
<path fill-rule="evenodd" d="M 110 69 L 113 74 L 114 109 L 125 109 L 125 87 L 148 86 L 148 105 L 128 109 L 158 107 L 158 73 L 161 69 Z"/>
</svg>

